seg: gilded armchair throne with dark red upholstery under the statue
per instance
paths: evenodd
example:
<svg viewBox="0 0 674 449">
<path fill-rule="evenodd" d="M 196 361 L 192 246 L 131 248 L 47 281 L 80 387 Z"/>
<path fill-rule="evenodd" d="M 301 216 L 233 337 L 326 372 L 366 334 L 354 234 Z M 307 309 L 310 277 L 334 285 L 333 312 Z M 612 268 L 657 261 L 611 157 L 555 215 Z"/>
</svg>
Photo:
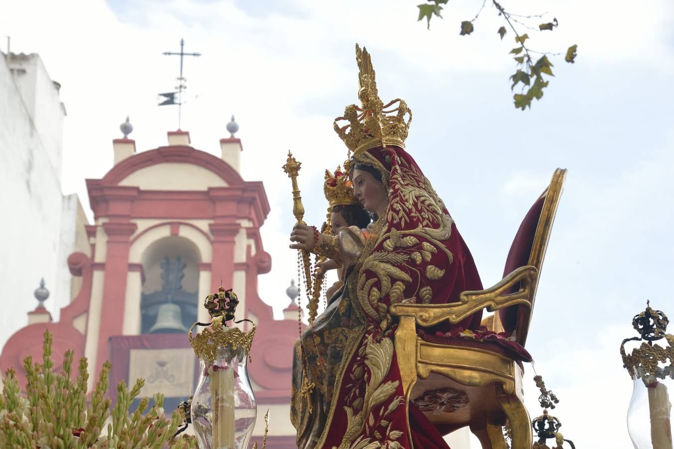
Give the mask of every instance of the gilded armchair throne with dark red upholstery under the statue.
<svg viewBox="0 0 674 449">
<path fill-rule="evenodd" d="M 507 421 L 511 447 L 532 447 L 522 361 L 530 361 L 524 346 L 566 172 L 555 171 L 524 217 L 500 282 L 483 291 L 464 291 L 456 303 L 390 307 L 399 320 L 394 344 L 406 401 L 425 400 L 425 405 L 435 406 L 421 409 L 442 434 L 469 426 L 483 449 L 505 449 L 502 426 Z M 510 338 L 479 340 L 424 332 L 443 322 L 459 323 L 480 309 L 494 312 L 483 325 Z"/>
</svg>

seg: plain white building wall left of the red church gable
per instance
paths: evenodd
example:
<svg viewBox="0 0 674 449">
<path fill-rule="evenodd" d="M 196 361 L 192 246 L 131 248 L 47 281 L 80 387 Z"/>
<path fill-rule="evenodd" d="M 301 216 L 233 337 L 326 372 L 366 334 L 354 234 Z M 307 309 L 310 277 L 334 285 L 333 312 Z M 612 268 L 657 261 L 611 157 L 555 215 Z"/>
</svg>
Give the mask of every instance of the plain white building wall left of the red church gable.
<svg viewBox="0 0 674 449">
<path fill-rule="evenodd" d="M 51 292 L 45 306 L 55 318 L 69 301 L 66 260 L 74 249 L 81 206 L 76 197 L 64 203 L 61 193 L 65 112 L 57 87 L 38 55 L 18 55 L 18 67 L 11 62 L 18 69 L 14 74 L 0 56 L 1 349 L 26 326 L 26 313 L 37 305 L 33 292 L 40 278 Z"/>
</svg>

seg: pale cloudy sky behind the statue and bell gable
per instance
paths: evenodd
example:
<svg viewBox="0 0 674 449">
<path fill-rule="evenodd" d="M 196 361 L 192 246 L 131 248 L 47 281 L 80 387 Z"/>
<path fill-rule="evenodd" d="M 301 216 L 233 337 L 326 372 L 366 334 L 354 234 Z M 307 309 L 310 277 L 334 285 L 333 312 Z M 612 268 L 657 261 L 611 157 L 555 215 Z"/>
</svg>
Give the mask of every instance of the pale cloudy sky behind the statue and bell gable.
<svg viewBox="0 0 674 449">
<path fill-rule="evenodd" d="M 111 140 L 125 117 L 139 151 L 165 145 L 177 128 L 175 108 L 156 106 L 178 70 L 177 58 L 162 53 L 178 51 L 180 38 L 185 51 L 202 53 L 185 60 L 181 127 L 195 148 L 219 156 L 235 114 L 243 177 L 264 181 L 271 205 L 262 236 L 272 271 L 259 277 L 259 293 L 276 313 L 296 274 L 280 166 L 288 150 L 303 163 L 305 219 L 320 225 L 322 173 L 346 158 L 332 121 L 357 102 L 355 42 L 372 55 L 382 99 L 404 98 L 412 109 L 407 150 L 446 203 L 485 286 L 500 280 L 520 221 L 555 168 L 568 169 L 527 349 L 561 400 L 554 414 L 566 438 L 631 448 L 632 382 L 619 345 L 634 335 L 632 316 L 646 299 L 674 316 L 674 3 L 501 2 L 557 18 L 553 32 L 529 31 L 532 48 L 578 44 L 573 65 L 551 57 L 555 77 L 527 111 L 512 104 L 515 45 L 510 32 L 498 37 L 493 7 L 460 36 L 479 0 L 448 3 L 430 30 L 416 22 L 416 3 L 24 0 L 5 2 L 0 34 L 11 36 L 12 51 L 39 53 L 61 83 L 63 193 L 78 193 L 90 217 L 84 179 L 111 169 Z M 527 367 L 534 417 L 532 376 Z M 608 423 L 611 432 L 599 431 Z"/>
</svg>

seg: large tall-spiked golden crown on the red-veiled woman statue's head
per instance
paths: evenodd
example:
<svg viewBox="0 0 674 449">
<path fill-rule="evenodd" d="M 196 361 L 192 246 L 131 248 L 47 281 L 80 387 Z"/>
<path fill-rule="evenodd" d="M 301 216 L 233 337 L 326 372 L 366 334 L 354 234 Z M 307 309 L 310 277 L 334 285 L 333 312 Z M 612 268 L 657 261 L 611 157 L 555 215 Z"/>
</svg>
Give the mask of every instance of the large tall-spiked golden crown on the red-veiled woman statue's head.
<svg viewBox="0 0 674 449">
<path fill-rule="evenodd" d="M 361 107 L 348 105 L 344 109 L 344 117 L 337 117 L 334 121 L 335 132 L 354 154 L 379 145 L 397 145 L 404 148 L 412 111 L 400 98 L 386 104 L 381 101 L 370 54 L 365 48 L 361 50 L 358 44 L 356 62 L 359 69 L 358 98 L 361 100 Z M 348 121 L 348 124 L 340 127 L 338 122 L 343 120 Z"/>
</svg>

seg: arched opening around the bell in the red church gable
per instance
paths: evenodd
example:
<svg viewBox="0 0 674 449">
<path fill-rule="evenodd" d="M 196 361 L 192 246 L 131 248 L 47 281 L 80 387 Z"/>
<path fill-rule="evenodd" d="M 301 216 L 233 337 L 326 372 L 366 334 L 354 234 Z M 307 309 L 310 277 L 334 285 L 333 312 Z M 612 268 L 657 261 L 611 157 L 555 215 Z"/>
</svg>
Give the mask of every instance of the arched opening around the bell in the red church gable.
<svg viewBox="0 0 674 449">
<path fill-rule="evenodd" d="M 157 320 L 163 303 L 175 303 L 181 309 L 180 322 L 189 328 L 197 320 L 199 247 L 180 235 L 156 239 L 143 251 L 140 263 L 145 282 L 140 301 L 141 333 L 146 334 Z"/>
</svg>

